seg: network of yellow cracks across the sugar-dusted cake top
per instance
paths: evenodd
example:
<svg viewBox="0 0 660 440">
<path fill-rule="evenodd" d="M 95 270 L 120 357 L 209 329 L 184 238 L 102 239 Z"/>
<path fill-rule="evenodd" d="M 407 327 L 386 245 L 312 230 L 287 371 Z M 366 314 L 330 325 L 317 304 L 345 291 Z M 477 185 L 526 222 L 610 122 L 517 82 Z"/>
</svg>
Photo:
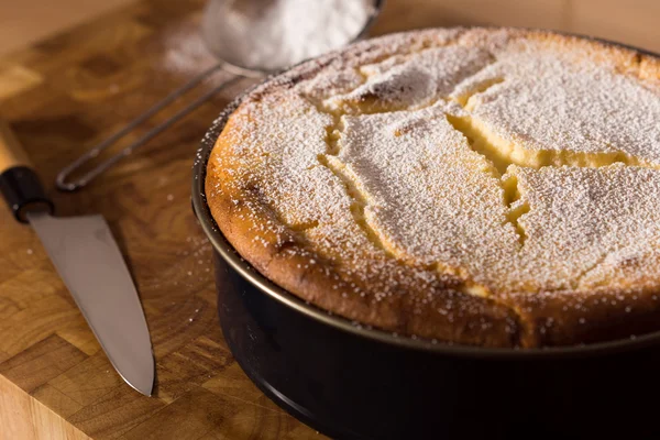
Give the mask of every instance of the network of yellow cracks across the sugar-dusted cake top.
<svg viewBox="0 0 660 440">
<path fill-rule="evenodd" d="M 486 65 L 486 67 L 488 65 Z M 484 70 L 484 68 L 479 69 L 475 75 L 479 75 Z M 468 77 L 465 80 L 470 80 L 471 78 L 472 77 Z M 447 101 L 449 99 L 461 102 L 464 106 L 464 110 L 470 110 L 474 108 L 474 98 L 481 94 L 487 92 L 491 88 L 504 81 L 505 78 L 502 77 L 490 78 L 487 80 L 483 80 L 472 90 L 458 98 L 439 97 L 437 100 L 428 102 L 417 110 L 430 109 L 441 101 Z M 395 258 L 399 257 L 400 260 L 400 256 L 393 252 L 387 233 L 380 229 L 376 224 L 373 224 L 366 218 L 365 210 L 369 207 L 370 196 L 369 194 L 364 193 L 364 189 L 359 189 L 359 185 L 356 184 L 359 177 L 354 175 L 353 170 L 349 172 L 346 164 L 338 158 L 340 154 L 340 139 L 344 129 L 343 118 L 346 117 L 345 110 L 340 110 L 339 108 L 329 108 L 326 102 L 317 102 L 315 106 L 319 111 L 330 114 L 334 121 L 331 127 L 327 128 L 328 151 L 324 155 L 318 156 L 319 162 L 321 165 L 331 169 L 332 173 L 345 186 L 346 193 L 354 200 L 353 205 L 351 205 L 353 218 L 364 233 L 369 237 L 370 241 L 372 241 L 372 243 L 374 243 L 378 249 L 383 250 L 387 255 Z M 380 109 L 378 111 L 373 111 L 374 109 L 370 106 L 367 106 L 367 109 L 369 111 L 366 111 L 365 114 L 410 111 L 392 109 Z M 354 109 L 351 111 L 354 112 Z M 517 178 L 507 173 L 512 165 L 531 168 L 541 168 L 547 166 L 560 167 L 564 165 L 578 167 L 604 167 L 616 163 L 622 163 L 624 165 L 648 166 L 654 168 L 654 166 L 647 165 L 644 161 L 629 156 L 623 152 L 584 153 L 568 152 L 562 150 L 532 151 L 520 146 L 516 142 L 507 143 L 494 133 L 487 131 L 484 125 L 480 123 L 480 121 L 475 120 L 470 114 L 455 116 L 452 114 L 451 111 L 447 111 L 444 117 L 447 118 L 448 122 L 451 123 L 453 129 L 468 140 L 470 147 L 486 160 L 488 165 L 483 170 L 496 178 L 499 183 L 503 194 L 503 202 L 506 208 L 504 221 L 510 223 L 513 227 L 513 230 L 517 234 L 517 242 L 520 248 L 525 244 L 527 233 L 524 224 L 519 220 L 530 211 L 531 207 L 529 201 L 520 195 L 520 191 L 517 187 Z M 397 129 L 394 132 L 395 136 L 400 136 L 404 134 L 406 134 L 406 130 Z M 435 264 L 439 268 L 443 267 L 444 271 L 448 270 L 446 262 L 436 261 Z M 593 267 L 590 267 L 584 272 L 588 272 Z M 451 268 L 450 271 L 457 273 L 457 268 Z M 462 270 L 459 270 L 459 272 L 462 272 Z M 464 276 L 464 274 L 462 275 Z M 460 287 L 461 292 L 482 297 L 491 296 L 490 288 L 486 285 L 476 283 L 470 277 L 465 279 L 469 280 L 462 284 Z"/>
</svg>

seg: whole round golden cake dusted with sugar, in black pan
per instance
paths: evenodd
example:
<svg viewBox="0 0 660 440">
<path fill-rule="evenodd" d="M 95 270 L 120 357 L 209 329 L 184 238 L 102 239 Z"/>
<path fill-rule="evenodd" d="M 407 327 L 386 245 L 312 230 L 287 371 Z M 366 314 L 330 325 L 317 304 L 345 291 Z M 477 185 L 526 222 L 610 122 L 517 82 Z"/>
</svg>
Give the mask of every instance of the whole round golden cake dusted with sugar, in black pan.
<svg viewBox="0 0 660 440">
<path fill-rule="evenodd" d="M 264 276 L 400 338 L 660 330 L 660 61 L 546 31 L 367 40 L 249 92 L 206 196 Z"/>
</svg>

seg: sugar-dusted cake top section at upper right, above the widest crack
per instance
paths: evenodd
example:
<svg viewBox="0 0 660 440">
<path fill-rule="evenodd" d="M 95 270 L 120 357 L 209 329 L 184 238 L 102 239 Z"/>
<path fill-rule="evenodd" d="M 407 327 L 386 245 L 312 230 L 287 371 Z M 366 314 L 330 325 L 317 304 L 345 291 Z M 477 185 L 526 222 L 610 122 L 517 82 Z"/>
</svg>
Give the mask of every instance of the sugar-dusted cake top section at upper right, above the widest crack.
<svg viewBox="0 0 660 440">
<path fill-rule="evenodd" d="M 581 62 L 588 56 L 517 44 L 468 78 L 454 96 L 504 78 L 475 95 L 469 108 L 505 140 L 532 150 L 625 152 L 660 163 L 660 85 L 645 87 L 605 63 Z"/>
</svg>

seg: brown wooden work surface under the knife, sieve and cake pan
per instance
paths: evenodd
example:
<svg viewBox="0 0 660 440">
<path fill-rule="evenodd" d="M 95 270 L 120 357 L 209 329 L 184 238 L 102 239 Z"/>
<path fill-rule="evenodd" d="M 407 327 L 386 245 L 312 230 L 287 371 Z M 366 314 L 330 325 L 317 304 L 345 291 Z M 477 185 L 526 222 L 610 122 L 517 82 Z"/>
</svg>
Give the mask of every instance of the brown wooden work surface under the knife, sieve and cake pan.
<svg viewBox="0 0 660 440">
<path fill-rule="evenodd" d="M 202 3 L 140 1 L 0 59 L 0 118 L 51 188 L 56 172 L 89 145 L 213 62 L 196 33 Z M 389 0 L 374 33 L 514 24 L 660 51 L 660 3 L 650 0 L 492 3 Z M 249 84 L 202 106 L 88 188 L 51 190 L 61 215 L 101 213 L 118 238 L 151 330 L 154 397 L 114 373 L 33 231 L 0 209 L 0 439 L 322 438 L 262 395 L 232 359 L 216 315 L 211 249 L 190 210 L 198 141 Z"/>
</svg>

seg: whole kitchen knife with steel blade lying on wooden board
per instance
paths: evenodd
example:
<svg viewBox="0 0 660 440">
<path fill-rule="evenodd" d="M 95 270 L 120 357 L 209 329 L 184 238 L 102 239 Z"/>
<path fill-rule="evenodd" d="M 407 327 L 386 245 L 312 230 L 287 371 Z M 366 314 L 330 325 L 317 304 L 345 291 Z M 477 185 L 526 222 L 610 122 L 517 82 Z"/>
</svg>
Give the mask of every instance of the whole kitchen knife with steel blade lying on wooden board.
<svg viewBox="0 0 660 440">
<path fill-rule="evenodd" d="M 30 160 L 0 120 L 0 191 L 16 220 L 36 231 L 119 375 L 151 396 L 154 358 L 131 274 L 101 216 L 53 217 L 54 205 Z"/>
</svg>

